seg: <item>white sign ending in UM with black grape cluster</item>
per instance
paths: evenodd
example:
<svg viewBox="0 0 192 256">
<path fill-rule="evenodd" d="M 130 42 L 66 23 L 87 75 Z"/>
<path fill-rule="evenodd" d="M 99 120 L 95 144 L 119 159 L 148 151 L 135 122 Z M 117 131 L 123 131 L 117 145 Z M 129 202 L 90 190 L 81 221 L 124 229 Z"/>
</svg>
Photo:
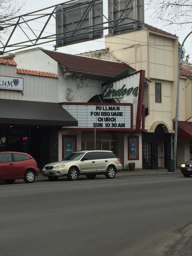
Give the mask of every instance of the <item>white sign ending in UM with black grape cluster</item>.
<svg viewBox="0 0 192 256">
<path fill-rule="evenodd" d="M 0 76 L 0 89 L 12 90 L 12 91 L 23 91 L 23 78 L 11 77 L 11 76 Z"/>
</svg>

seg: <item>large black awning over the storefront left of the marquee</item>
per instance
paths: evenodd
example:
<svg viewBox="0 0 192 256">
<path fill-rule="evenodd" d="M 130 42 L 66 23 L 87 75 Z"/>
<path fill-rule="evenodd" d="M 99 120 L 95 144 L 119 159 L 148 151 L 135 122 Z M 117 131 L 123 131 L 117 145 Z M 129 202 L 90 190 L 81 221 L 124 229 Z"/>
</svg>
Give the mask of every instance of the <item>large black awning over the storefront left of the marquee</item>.
<svg viewBox="0 0 192 256">
<path fill-rule="evenodd" d="M 59 103 L 0 99 L 0 124 L 77 126 Z"/>
</svg>

